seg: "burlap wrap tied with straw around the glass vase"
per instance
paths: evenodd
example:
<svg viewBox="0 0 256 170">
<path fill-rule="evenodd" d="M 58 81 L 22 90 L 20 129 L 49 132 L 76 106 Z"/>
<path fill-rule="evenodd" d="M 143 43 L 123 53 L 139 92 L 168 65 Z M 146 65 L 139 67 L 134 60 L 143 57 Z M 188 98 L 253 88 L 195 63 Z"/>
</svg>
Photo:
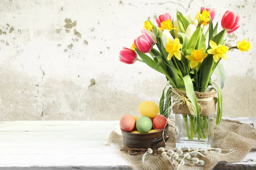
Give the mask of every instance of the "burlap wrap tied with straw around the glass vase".
<svg viewBox="0 0 256 170">
<path fill-rule="evenodd" d="M 180 94 L 186 98 L 186 91 L 181 91 L 177 88 L 173 88 L 174 91 L 177 92 L 177 94 Z M 171 96 L 175 98 L 177 96 L 175 93 L 171 93 Z M 198 92 L 195 91 L 195 96 L 197 99 L 207 99 L 207 98 L 212 98 L 209 101 L 198 101 L 198 107 L 199 107 L 199 112 L 201 116 L 210 116 L 212 113 L 216 111 L 216 103 L 218 99 L 214 97 L 216 94 L 216 90 L 212 89 L 211 91 L 208 92 Z M 175 99 L 174 99 L 175 100 Z M 178 104 L 176 103 L 175 105 L 172 106 L 172 111 L 174 114 L 191 114 L 189 112 L 188 106 L 185 104 Z"/>
</svg>

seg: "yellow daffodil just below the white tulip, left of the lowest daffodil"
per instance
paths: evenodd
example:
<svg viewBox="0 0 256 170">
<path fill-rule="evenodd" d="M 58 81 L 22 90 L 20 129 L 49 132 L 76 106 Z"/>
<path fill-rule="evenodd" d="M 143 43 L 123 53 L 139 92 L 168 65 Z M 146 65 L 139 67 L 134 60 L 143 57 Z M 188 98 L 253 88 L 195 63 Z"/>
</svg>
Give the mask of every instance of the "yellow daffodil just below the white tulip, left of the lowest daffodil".
<svg viewBox="0 0 256 170">
<path fill-rule="evenodd" d="M 175 38 L 174 41 L 171 39 L 168 39 L 168 43 L 166 44 L 166 51 L 169 53 L 167 59 L 172 59 L 172 56 L 174 55 L 178 60 L 180 60 L 180 48 L 182 47 L 182 44 L 179 44 L 180 40 L 178 38 Z"/>
</svg>

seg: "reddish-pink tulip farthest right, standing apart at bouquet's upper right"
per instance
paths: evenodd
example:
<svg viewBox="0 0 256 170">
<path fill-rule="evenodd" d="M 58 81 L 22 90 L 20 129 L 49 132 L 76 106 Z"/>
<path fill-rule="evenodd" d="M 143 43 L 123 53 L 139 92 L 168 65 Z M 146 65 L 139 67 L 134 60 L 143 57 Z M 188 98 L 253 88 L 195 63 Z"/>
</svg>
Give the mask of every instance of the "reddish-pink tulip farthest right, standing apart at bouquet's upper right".
<svg viewBox="0 0 256 170">
<path fill-rule="evenodd" d="M 221 27 L 227 30 L 227 33 L 231 33 L 239 28 L 238 22 L 240 20 L 240 15 L 235 14 L 232 11 L 226 11 L 221 19 Z"/>
</svg>

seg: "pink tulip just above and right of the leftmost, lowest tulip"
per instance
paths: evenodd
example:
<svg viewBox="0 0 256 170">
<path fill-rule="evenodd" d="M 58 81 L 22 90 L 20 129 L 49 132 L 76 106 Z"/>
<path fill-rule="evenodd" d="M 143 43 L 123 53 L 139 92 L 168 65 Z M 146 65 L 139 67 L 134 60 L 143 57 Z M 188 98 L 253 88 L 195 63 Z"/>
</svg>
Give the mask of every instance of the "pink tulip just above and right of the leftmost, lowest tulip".
<svg viewBox="0 0 256 170">
<path fill-rule="evenodd" d="M 136 48 L 142 53 L 151 51 L 152 44 L 145 35 L 141 35 L 134 40 Z"/>
</svg>

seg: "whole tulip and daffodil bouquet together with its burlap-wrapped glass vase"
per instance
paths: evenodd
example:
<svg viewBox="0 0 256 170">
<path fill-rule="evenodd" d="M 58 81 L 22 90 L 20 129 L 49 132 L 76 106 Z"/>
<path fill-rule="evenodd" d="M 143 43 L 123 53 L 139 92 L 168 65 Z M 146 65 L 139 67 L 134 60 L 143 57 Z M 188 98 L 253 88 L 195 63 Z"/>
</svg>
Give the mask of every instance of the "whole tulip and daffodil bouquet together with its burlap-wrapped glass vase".
<svg viewBox="0 0 256 170">
<path fill-rule="evenodd" d="M 218 32 L 218 22 L 212 23 L 214 8 L 201 7 L 196 13 L 195 17 L 184 16 L 177 10 L 175 20 L 169 13 L 162 14 L 156 19 L 157 26 L 148 18 L 141 30 L 143 35 L 134 40 L 131 48 L 120 51 L 119 60 L 126 64 L 143 62 L 166 77 L 168 85 L 163 89 L 159 108 L 166 118 L 175 115 L 177 144 L 211 145 L 212 114 L 217 103 L 218 126 L 222 116 L 220 89 L 226 81 L 220 61 L 228 59 L 230 49 L 248 51 L 250 42 L 244 39 L 236 46 L 225 46 L 225 35 L 239 28 L 239 14 L 227 11 L 221 20 L 223 29 Z M 213 73 L 218 85 L 212 82 Z"/>
</svg>

